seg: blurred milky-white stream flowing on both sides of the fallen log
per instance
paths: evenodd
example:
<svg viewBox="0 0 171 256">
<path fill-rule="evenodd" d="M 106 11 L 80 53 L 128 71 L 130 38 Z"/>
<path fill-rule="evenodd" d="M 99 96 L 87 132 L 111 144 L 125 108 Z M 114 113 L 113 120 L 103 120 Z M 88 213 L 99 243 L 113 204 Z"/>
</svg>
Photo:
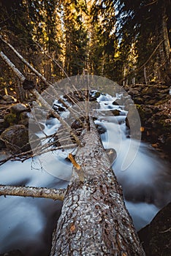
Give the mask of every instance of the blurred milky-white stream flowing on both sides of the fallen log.
<svg viewBox="0 0 171 256">
<path fill-rule="evenodd" d="M 117 153 L 111 165 L 123 187 L 126 207 L 134 226 L 140 230 L 170 202 L 169 164 L 150 144 L 130 138 L 125 124 L 127 111 L 121 105 L 113 105 L 116 98 L 109 94 L 98 97 L 95 123 L 104 129 L 101 135 L 104 148 L 114 148 Z M 119 116 L 111 115 L 111 110 L 119 110 Z M 58 120 L 50 118 L 45 121 L 44 132 L 53 134 L 58 127 Z M 42 133 L 37 135 L 41 137 Z M 66 161 L 71 151 L 73 148 L 48 152 L 23 163 L 7 162 L 1 166 L 0 184 L 64 188 L 72 175 L 72 164 Z M 61 206 L 60 201 L 50 199 L 0 197 L 0 253 L 20 249 L 26 256 L 49 255 Z"/>
</svg>

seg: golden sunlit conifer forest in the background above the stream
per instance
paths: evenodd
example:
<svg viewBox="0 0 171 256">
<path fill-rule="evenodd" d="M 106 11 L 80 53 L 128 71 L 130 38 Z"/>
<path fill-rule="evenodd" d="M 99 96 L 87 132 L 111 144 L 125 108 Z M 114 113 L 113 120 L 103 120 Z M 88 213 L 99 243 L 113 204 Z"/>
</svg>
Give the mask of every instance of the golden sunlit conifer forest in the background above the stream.
<svg viewBox="0 0 171 256">
<path fill-rule="evenodd" d="M 1 0 L 0 5 L 2 37 L 52 82 L 64 78 L 64 71 L 118 83 L 170 81 L 170 1 Z M 1 49 L 28 72 L 3 43 Z M 1 67 L 1 82 L 15 83 L 3 62 Z"/>
</svg>

